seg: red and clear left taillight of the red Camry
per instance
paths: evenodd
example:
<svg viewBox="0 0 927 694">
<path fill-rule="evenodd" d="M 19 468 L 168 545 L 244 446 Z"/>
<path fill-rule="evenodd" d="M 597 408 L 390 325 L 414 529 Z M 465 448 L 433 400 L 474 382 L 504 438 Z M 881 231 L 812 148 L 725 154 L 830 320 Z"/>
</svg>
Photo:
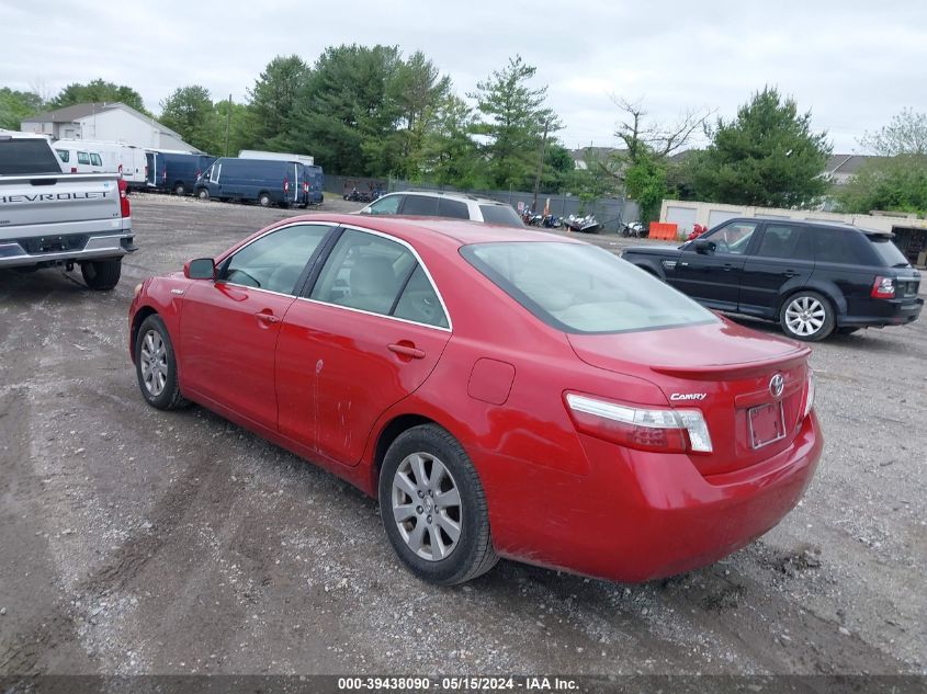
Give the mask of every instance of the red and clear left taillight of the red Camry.
<svg viewBox="0 0 927 694">
<path fill-rule="evenodd" d="M 701 410 L 640 408 L 568 392 L 566 403 L 583 433 L 640 451 L 711 453 Z"/>
</svg>

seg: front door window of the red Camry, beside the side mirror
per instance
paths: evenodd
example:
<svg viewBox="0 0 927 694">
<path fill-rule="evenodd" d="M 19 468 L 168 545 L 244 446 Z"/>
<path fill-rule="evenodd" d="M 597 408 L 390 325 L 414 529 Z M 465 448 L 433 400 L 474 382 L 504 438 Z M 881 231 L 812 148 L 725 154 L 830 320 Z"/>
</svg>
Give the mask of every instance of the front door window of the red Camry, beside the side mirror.
<svg viewBox="0 0 927 694">
<path fill-rule="evenodd" d="M 332 228 L 299 224 L 262 236 L 223 263 L 218 281 L 295 294 L 306 263 Z"/>
</svg>

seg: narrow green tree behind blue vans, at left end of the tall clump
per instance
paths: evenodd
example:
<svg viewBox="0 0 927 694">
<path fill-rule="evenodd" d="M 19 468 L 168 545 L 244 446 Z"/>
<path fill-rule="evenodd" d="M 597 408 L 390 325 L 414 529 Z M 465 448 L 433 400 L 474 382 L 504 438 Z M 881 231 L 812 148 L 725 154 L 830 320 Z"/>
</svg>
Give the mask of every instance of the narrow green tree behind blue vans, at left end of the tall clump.
<svg viewBox="0 0 927 694">
<path fill-rule="evenodd" d="M 248 90 L 249 145 L 273 148 L 286 139 L 286 125 L 296 109 L 299 92 L 312 69 L 299 56 L 276 56 Z"/>
</svg>

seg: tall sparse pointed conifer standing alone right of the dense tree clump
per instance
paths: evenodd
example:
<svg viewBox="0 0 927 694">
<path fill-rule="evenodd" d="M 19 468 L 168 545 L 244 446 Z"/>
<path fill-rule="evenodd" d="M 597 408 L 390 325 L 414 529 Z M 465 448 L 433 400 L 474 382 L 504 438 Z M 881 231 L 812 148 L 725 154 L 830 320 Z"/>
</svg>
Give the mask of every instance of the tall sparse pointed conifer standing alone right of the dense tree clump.
<svg viewBox="0 0 927 694">
<path fill-rule="evenodd" d="M 486 139 L 483 152 L 497 187 L 533 185 L 544 129 L 554 133 L 561 127 L 553 111 L 543 105 L 547 88 L 529 86 L 535 72 L 516 55 L 468 94 L 482 116 L 473 133 Z"/>
</svg>

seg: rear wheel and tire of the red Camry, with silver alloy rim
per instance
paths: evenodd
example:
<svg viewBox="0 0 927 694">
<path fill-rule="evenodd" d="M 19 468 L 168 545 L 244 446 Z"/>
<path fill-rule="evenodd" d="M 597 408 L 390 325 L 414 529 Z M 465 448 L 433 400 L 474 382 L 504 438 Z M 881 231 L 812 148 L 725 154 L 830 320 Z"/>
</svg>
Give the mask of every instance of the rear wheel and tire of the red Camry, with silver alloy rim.
<svg viewBox="0 0 927 694">
<path fill-rule="evenodd" d="M 455 585 L 498 561 L 479 476 L 445 430 L 422 424 L 400 434 L 383 459 L 378 487 L 386 536 L 420 579 Z"/>
</svg>

